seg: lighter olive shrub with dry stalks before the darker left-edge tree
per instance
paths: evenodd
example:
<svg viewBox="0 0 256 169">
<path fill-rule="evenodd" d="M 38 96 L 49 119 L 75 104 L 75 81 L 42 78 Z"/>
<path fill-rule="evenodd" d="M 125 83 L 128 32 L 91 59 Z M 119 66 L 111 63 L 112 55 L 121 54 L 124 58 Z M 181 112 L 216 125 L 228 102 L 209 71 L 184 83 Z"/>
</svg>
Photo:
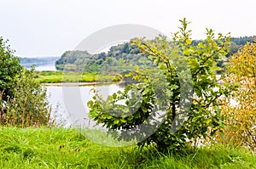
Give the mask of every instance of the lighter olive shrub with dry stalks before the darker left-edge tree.
<svg viewBox="0 0 256 169">
<path fill-rule="evenodd" d="M 0 91 L 0 125 L 40 127 L 49 123 L 50 109 L 46 89 L 33 79 L 33 72 L 24 70 L 11 87 L 12 95 L 3 98 Z"/>
</svg>

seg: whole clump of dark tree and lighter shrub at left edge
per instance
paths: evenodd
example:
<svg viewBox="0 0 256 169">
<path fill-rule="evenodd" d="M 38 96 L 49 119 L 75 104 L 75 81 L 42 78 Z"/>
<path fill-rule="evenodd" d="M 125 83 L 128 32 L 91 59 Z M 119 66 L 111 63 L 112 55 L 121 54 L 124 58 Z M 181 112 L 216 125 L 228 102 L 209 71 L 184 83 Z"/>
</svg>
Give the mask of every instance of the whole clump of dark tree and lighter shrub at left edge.
<svg viewBox="0 0 256 169">
<path fill-rule="evenodd" d="M 1 41 L 2 42 L 2 41 Z M 26 70 L 9 47 L 1 44 L 0 125 L 42 126 L 49 121 L 46 90 Z"/>
</svg>

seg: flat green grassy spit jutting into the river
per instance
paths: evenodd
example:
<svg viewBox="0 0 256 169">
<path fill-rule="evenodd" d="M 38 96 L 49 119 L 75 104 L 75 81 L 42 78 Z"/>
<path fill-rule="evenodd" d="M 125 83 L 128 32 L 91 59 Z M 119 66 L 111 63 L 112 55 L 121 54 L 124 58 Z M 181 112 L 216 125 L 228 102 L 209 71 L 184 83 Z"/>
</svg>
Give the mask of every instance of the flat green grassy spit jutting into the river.
<svg viewBox="0 0 256 169">
<path fill-rule="evenodd" d="M 41 83 L 56 82 L 119 82 L 121 76 L 115 74 L 100 74 L 97 72 L 74 71 L 38 71 L 36 80 Z"/>
</svg>

